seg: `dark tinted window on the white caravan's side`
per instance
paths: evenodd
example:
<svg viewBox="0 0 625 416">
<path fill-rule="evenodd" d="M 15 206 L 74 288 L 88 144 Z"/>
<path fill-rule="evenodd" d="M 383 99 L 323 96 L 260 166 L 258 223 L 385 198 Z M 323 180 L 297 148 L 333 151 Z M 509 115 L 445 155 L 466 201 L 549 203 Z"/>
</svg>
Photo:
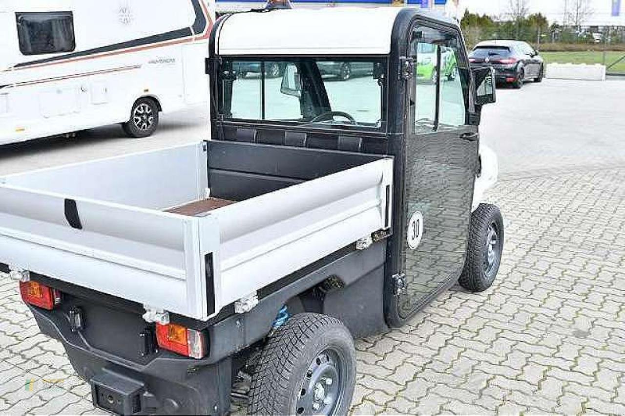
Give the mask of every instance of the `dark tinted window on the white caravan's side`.
<svg viewBox="0 0 625 416">
<path fill-rule="evenodd" d="M 16 13 L 19 50 L 24 55 L 71 52 L 76 48 L 71 12 Z"/>
</svg>

